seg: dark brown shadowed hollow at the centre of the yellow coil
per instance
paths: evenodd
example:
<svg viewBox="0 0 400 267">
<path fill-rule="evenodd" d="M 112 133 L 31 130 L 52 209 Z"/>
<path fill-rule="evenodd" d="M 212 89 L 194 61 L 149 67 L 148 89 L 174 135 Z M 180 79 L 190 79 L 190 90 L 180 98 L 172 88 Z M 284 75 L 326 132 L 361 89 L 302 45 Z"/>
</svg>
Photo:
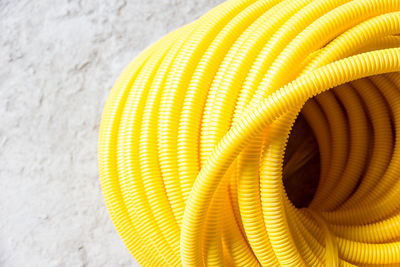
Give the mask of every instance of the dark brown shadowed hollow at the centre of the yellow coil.
<svg viewBox="0 0 400 267">
<path fill-rule="evenodd" d="M 289 136 L 284 157 L 283 183 L 290 201 L 307 207 L 317 189 L 320 158 L 317 140 L 300 114 Z"/>
</svg>

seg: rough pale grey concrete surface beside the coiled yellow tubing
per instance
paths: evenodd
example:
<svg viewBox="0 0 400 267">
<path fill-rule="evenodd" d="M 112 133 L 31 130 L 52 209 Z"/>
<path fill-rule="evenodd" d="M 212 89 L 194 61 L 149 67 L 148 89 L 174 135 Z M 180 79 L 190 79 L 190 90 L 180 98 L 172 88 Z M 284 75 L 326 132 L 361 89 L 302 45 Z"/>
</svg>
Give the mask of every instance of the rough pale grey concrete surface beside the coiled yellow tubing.
<svg viewBox="0 0 400 267">
<path fill-rule="evenodd" d="M 222 0 L 0 0 L 0 266 L 135 266 L 99 185 L 100 115 L 142 49 Z"/>
</svg>

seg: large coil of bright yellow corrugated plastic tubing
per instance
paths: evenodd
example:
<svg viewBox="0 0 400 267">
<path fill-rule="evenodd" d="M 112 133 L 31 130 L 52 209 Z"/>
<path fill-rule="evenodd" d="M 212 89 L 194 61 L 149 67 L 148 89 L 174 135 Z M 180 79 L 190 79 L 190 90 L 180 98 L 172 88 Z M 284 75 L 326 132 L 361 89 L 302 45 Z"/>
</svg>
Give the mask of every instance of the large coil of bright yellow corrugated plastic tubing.
<svg viewBox="0 0 400 267">
<path fill-rule="evenodd" d="M 399 10 L 231 0 L 141 53 L 99 142 L 107 207 L 139 263 L 400 266 Z M 282 179 L 299 112 L 321 165 L 301 209 Z"/>
</svg>

